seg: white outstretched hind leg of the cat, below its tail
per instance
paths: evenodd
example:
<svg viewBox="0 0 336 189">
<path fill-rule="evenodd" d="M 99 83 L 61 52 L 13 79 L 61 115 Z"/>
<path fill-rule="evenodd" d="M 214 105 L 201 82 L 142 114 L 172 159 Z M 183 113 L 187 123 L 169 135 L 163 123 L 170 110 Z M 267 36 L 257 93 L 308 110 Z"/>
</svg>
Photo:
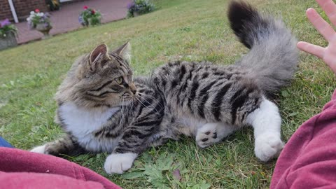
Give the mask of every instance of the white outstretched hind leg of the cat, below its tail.
<svg viewBox="0 0 336 189">
<path fill-rule="evenodd" d="M 276 158 L 284 146 L 278 107 L 263 99 L 260 107 L 248 115 L 247 122 L 254 128 L 254 152 L 257 158 L 263 162 Z"/>
</svg>

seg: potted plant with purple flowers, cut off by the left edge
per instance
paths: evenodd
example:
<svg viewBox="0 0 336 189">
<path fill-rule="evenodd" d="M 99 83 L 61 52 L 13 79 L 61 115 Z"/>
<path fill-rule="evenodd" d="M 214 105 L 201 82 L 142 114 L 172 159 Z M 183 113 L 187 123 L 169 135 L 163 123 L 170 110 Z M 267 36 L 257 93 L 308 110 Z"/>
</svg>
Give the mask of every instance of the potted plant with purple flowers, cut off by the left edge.
<svg viewBox="0 0 336 189">
<path fill-rule="evenodd" d="M 8 19 L 0 22 L 0 50 L 18 45 L 17 32 L 18 29 Z"/>
</svg>

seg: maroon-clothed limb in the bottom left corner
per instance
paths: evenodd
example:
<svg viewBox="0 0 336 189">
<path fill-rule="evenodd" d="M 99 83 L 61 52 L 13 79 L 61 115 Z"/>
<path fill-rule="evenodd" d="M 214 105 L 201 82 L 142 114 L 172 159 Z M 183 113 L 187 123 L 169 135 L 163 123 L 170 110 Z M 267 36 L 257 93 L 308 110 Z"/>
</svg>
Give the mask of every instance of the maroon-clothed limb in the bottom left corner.
<svg viewBox="0 0 336 189">
<path fill-rule="evenodd" d="M 0 147 L 0 188 L 120 187 L 90 169 L 62 158 Z"/>
</svg>

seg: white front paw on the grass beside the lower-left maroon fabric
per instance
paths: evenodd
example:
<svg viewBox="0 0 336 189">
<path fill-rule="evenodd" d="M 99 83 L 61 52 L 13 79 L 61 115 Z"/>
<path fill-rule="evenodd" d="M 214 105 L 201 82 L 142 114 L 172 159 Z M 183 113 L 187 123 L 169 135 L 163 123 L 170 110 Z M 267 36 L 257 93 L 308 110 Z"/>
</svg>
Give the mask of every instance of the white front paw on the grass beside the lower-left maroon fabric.
<svg viewBox="0 0 336 189">
<path fill-rule="evenodd" d="M 135 153 L 115 153 L 106 158 L 104 169 L 108 174 L 123 174 L 130 169 L 137 158 Z"/>
</svg>

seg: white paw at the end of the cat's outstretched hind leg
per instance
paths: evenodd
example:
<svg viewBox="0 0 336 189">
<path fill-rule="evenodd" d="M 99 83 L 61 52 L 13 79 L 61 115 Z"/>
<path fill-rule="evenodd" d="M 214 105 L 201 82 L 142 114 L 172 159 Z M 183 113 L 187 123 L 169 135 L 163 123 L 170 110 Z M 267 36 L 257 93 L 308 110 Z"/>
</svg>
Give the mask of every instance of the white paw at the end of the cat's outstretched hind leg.
<svg viewBox="0 0 336 189">
<path fill-rule="evenodd" d="M 255 139 L 255 156 L 262 162 L 267 162 L 279 156 L 284 144 L 280 137 L 274 134 L 262 134 Z"/>
</svg>

